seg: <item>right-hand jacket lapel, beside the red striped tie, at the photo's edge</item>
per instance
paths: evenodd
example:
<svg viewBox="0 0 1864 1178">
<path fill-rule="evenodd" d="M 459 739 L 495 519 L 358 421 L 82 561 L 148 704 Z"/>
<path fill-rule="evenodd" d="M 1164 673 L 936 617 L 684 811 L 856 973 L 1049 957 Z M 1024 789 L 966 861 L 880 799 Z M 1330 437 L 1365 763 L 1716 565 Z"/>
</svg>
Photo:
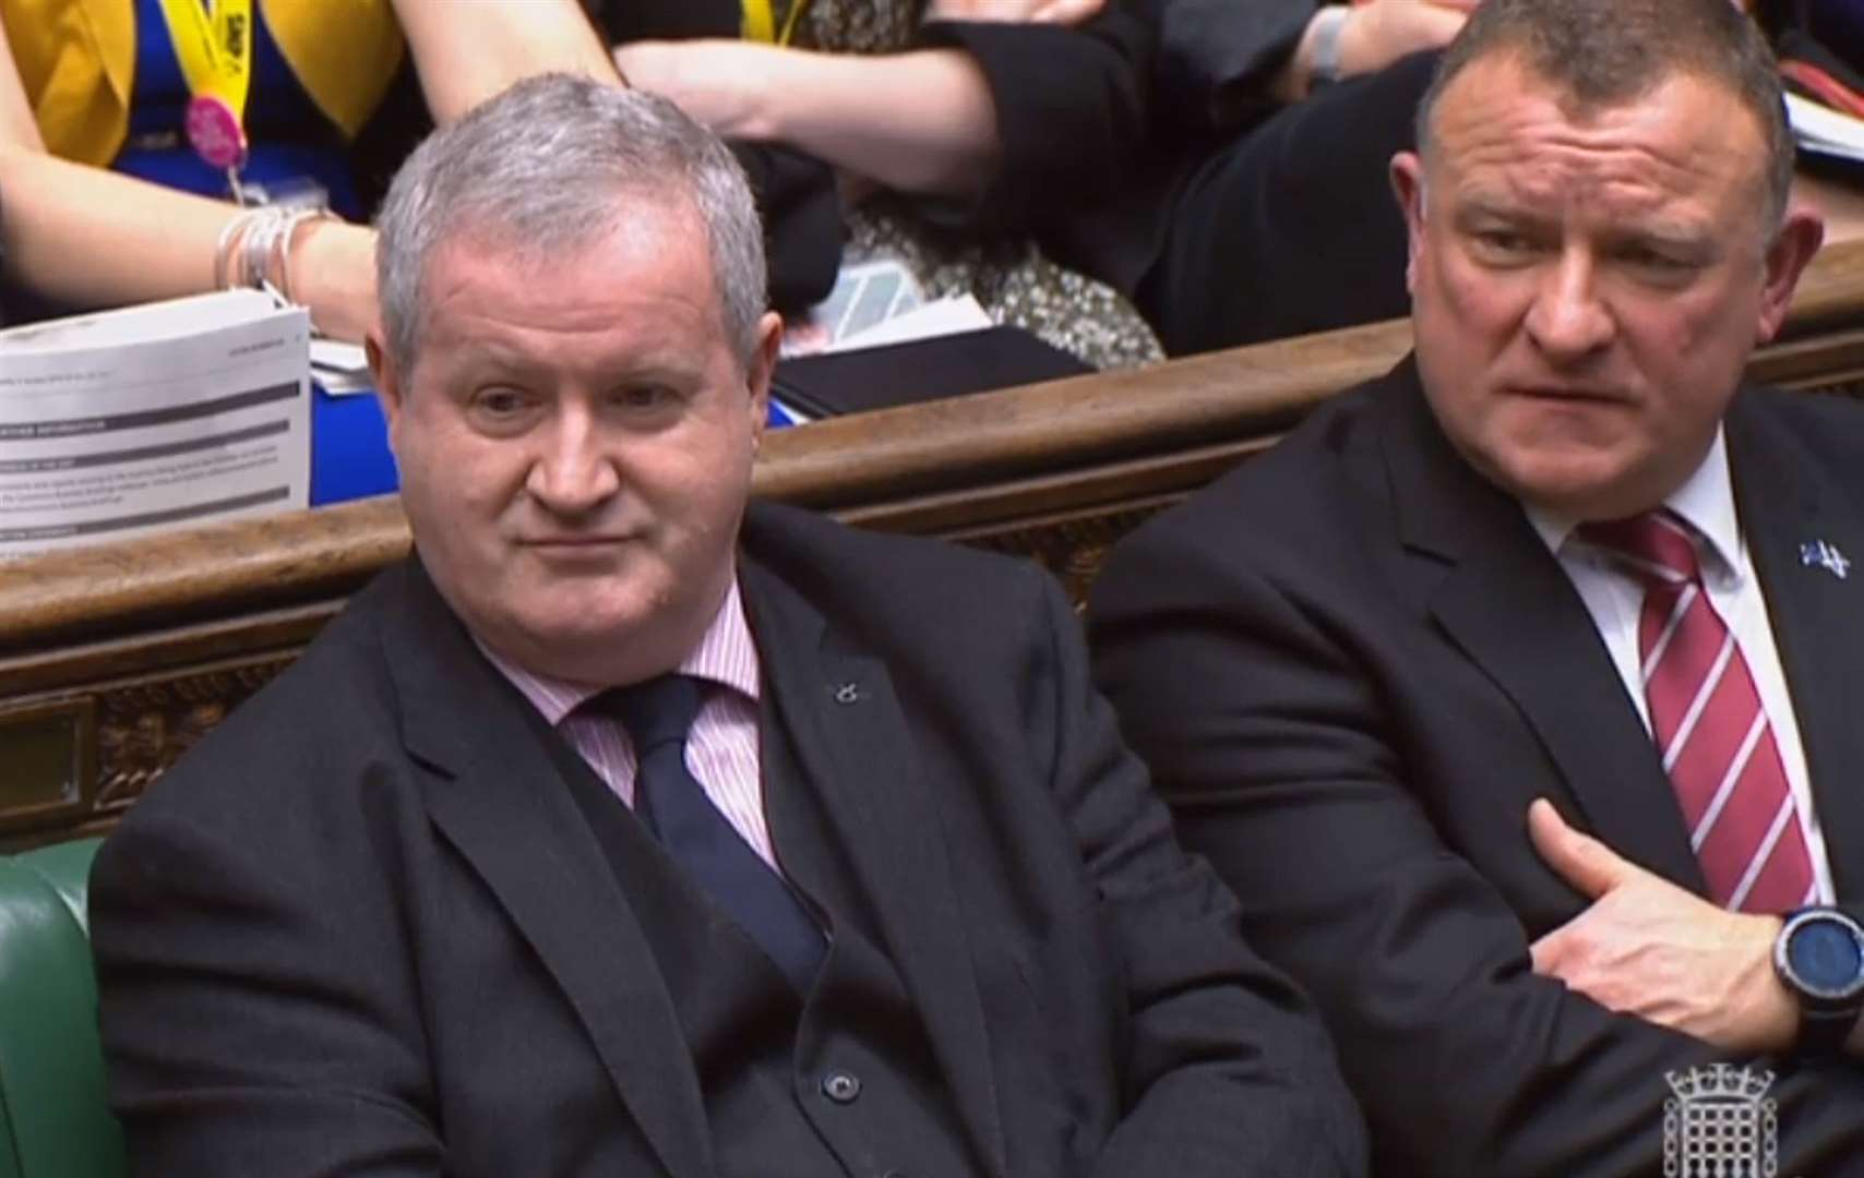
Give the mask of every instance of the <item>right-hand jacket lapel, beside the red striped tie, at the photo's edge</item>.
<svg viewBox="0 0 1864 1178">
<path fill-rule="evenodd" d="M 1804 393 L 1795 393 L 1804 395 Z M 1825 542 L 1864 557 L 1864 520 L 1823 494 L 1819 470 L 1797 442 L 1743 391 L 1730 406 L 1728 464 L 1741 535 L 1767 596 L 1775 645 L 1786 671 L 1814 807 L 1840 897 L 1864 897 L 1864 725 L 1849 688 L 1864 669 L 1864 568 L 1834 574 L 1801 548 Z M 1819 472 L 1823 473 L 1823 472 Z M 1817 555 L 1817 554 L 1814 554 Z M 1849 856 L 1845 854 L 1849 852 Z"/>
</svg>

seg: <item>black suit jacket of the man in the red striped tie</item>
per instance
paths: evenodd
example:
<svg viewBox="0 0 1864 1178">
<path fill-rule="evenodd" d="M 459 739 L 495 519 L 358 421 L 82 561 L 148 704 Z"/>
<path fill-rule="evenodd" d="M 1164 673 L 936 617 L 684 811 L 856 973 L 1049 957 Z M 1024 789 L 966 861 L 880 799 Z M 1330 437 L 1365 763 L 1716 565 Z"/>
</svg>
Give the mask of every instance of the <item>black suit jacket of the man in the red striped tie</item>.
<svg viewBox="0 0 1864 1178">
<path fill-rule="evenodd" d="M 1843 902 L 1864 902 L 1864 408 L 1745 390 L 1726 418 Z M 1113 557 L 1096 673 L 1251 941 L 1314 993 L 1379 1174 L 1653 1174 L 1665 1072 L 1726 1059 L 1534 977 L 1584 908 L 1545 796 L 1702 891 L 1668 779 L 1521 507 L 1448 445 L 1407 362 Z M 1732 1061 L 1741 1062 L 1741 1061 Z M 1778 1061 L 1780 1172 L 1864 1174 L 1855 1062 Z"/>
</svg>

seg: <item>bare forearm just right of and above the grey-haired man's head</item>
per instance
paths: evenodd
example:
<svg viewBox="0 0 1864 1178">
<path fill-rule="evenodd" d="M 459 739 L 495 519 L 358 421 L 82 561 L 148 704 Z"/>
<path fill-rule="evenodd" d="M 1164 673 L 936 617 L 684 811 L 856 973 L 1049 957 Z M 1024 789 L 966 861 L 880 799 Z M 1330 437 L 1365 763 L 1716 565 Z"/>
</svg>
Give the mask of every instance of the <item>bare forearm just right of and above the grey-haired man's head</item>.
<svg viewBox="0 0 1864 1178">
<path fill-rule="evenodd" d="M 966 196 L 995 170 L 997 112 L 969 54 L 822 54 L 749 41 L 636 41 L 630 84 L 727 138 L 783 142 L 887 188 Z"/>
</svg>

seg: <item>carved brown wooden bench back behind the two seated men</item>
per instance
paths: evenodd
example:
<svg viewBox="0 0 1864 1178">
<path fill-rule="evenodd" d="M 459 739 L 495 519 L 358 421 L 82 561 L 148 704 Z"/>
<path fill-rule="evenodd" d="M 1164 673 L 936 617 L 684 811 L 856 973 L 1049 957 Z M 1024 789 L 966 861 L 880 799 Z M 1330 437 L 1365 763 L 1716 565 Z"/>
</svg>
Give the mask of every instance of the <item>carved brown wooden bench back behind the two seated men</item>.
<svg viewBox="0 0 1864 1178">
<path fill-rule="evenodd" d="M 1409 347 L 1385 322 L 783 431 L 757 494 L 1027 555 L 1079 602 L 1139 520 Z M 1756 378 L 1864 395 L 1864 242 Z M 103 829 L 408 550 L 395 498 L 0 565 L 0 850 Z"/>
</svg>

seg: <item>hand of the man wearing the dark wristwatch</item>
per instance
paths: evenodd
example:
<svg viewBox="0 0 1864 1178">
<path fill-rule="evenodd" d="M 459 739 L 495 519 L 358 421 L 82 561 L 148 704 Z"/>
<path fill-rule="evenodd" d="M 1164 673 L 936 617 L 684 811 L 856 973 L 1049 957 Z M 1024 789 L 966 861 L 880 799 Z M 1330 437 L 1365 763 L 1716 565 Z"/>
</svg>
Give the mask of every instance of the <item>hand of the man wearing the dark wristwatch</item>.
<svg viewBox="0 0 1864 1178">
<path fill-rule="evenodd" d="M 1547 800 L 1527 813 L 1542 859 L 1592 900 L 1534 941 L 1534 973 L 1620 1014 L 1726 1051 L 1784 1051 L 1799 1010 L 1773 971 L 1778 917 L 1724 911 L 1569 828 Z"/>
</svg>

